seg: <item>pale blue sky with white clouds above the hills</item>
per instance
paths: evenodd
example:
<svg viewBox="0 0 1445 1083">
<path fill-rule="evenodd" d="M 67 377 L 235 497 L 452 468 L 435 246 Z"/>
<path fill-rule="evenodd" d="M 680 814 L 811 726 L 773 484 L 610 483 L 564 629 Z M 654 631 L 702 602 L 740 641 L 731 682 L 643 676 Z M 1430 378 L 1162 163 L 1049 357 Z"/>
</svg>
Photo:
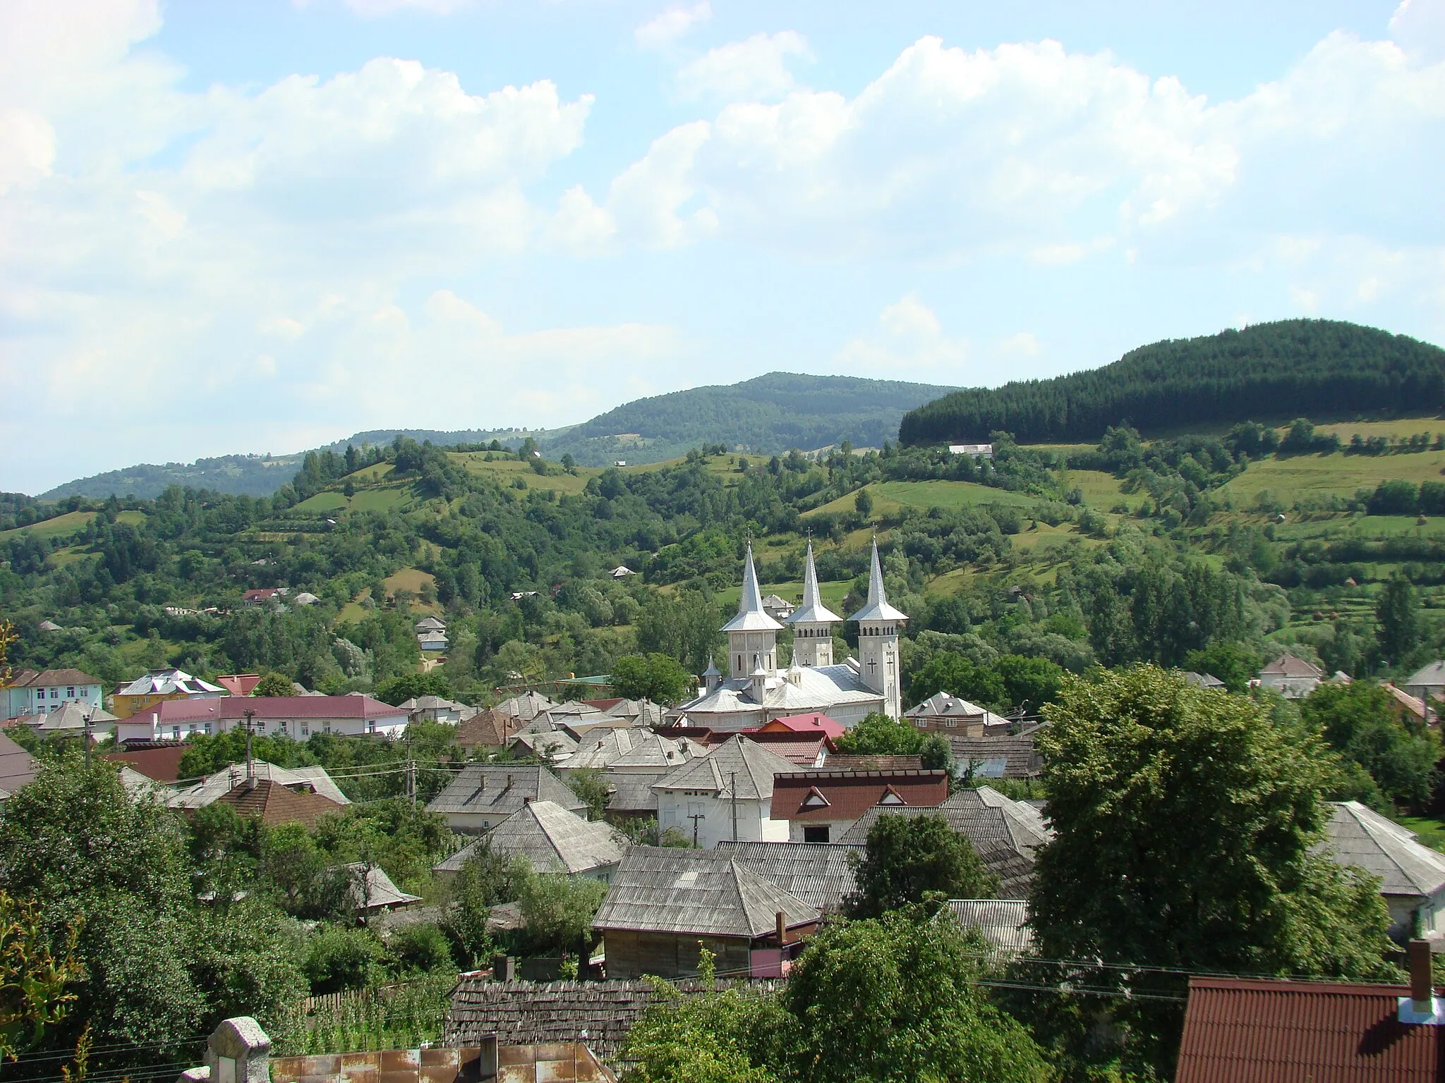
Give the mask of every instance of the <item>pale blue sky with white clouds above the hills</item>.
<svg viewBox="0 0 1445 1083">
<path fill-rule="evenodd" d="M 4 0 L 0 490 L 769 371 L 1445 344 L 1445 0 Z"/>
</svg>

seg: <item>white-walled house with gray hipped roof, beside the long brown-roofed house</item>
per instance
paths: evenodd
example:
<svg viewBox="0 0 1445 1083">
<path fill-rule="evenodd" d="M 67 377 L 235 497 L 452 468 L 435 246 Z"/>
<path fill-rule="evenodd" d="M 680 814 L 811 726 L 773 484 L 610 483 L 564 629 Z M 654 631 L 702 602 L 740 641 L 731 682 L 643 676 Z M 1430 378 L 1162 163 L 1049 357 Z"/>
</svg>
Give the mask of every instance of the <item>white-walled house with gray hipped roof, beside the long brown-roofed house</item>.
<svg viewBox="0 0 1445 1083">
<path fill-rule="evenodd" d="M 783 842 L 788 822 L 772 819 L 773 775 L 798 768 L 744 736 L 733 736 L 655 784 L 657 826 L 702 849 L 722 839 Z"/>
</svg>

